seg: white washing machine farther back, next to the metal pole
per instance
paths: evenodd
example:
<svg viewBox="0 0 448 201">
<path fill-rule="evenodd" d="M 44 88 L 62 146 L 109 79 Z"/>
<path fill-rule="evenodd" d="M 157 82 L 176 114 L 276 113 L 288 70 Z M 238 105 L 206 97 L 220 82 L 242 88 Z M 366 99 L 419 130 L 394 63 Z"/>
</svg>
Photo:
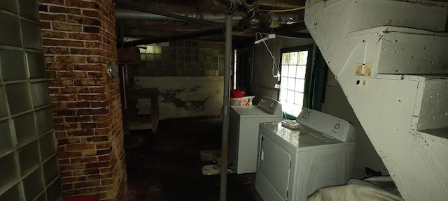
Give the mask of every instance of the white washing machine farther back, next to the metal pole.
<svg viewBox="0 0 448 201">
<path fill-rule="evenodd" d="M 229 163 L 238 174 L 255 172 L 258 155 L 258 126 L 281 121 L 281 104 L 264 97 L 258 105 L 230 106 Z"/>
</svg>

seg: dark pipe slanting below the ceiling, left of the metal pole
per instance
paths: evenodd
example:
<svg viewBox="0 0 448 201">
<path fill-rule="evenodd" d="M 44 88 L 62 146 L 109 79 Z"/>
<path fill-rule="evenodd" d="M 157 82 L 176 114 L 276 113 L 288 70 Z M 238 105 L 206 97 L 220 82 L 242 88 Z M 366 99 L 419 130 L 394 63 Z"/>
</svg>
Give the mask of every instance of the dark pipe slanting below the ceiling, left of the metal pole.
<svg viewBox="0 0 448 201">
<path fill-rule="evenodd" d="M 157 38 L 144 38 L 139 40 L 132 40 L 125 43 L 117 43 L 117 47 L 132 47 L 137 45 L 148 45 L 153 43 L 163 43 L 174 40 L 186 40 L 190 38 L 199 38 L 202 36 L 211 36 L 215 34 L 223 34 L 223 27 L 214 27 L 211 29 L 201 29 L 200 31 L 188 32 L 185 34 L 178 34 L 174 36 L 161 36 Z"/>
</svg>

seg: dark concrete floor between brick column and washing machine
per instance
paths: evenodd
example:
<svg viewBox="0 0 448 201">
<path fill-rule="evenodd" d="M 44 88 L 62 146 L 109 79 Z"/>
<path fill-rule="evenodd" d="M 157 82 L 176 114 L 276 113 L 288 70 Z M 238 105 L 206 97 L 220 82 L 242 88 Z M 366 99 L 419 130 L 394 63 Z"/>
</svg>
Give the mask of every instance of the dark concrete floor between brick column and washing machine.
<svg viewBox="0 0 448 201">
<path fill-rule="evenodd" d="M 220 117 L 167 119 L 158 133 L 125 135 L 128 200 L 219 200 L 220 175 L 202 175 L 200 151 L 220 149 L 221 127 Z M 227 200 L 261 200 L 254 181 L 229 174 Z"/>
</svg>

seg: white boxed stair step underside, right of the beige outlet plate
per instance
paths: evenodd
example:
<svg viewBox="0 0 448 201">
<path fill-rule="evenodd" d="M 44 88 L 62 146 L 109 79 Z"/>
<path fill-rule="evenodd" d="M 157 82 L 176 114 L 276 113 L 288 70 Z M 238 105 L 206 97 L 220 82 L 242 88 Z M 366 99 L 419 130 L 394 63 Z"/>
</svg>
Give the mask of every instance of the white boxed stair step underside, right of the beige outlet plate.
<svg viewBox="0 0 448 201">
<path fill-rule="evenodd" d="M 448 74 L 448 34 L 444 36 L 379 32 L 381 52 L 377 73 Z"/>
</svg>

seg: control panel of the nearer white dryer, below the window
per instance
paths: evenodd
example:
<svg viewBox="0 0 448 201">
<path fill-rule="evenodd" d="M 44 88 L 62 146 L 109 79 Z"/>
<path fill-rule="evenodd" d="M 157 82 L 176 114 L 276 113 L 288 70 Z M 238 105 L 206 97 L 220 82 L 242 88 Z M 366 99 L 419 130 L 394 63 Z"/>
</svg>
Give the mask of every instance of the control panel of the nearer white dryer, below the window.
<svg viewBox="0 0 448 201">
<path fill-rule="evenodd" d="M 355 127 L 349 121 L 334 117 L 330 114 L 303 108 L 297 119 L 301 126 L 318 131 L 319 135 L 332 137 L 342 142 L 355 141 Z"/>
</svg>

